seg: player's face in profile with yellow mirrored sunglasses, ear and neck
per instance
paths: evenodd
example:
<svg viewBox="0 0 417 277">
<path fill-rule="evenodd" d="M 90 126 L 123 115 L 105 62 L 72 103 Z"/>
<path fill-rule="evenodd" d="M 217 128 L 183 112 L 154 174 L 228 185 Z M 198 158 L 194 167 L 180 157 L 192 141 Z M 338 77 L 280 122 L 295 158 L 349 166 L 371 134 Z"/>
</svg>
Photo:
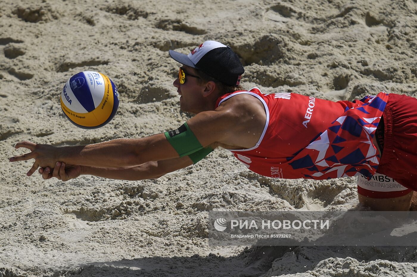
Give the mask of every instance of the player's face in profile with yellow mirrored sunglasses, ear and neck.
<svg viewBox="0 0 417 277">
<path fill-rule="evenodd" d="M 201 111 L 199 108 L 202 106 L 201 92 L 203 92 L 204 86 L 200 85 L 198 81 L 199 77 L 196 69 L 186 65 L 180 68 L 178 78 L 173 82 L 173 85 L 181 96 L 180 108 L 182 111 L 193 114 L 198 114 Z"/>
</svg>

